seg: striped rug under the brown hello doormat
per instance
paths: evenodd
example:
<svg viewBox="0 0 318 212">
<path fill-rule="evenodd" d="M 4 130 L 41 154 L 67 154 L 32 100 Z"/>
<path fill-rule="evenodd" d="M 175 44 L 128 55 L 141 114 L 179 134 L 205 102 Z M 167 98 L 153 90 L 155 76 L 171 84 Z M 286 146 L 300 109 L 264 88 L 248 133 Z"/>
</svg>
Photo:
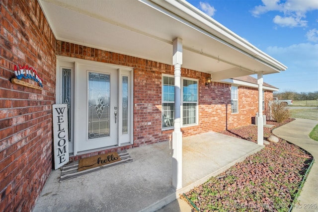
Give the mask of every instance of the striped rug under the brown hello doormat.
<svg viewBox="0 0 318 212">
<path fill-rule="evenodd" d="M 91 173 L 91 172 L 94 172 L 94 171 L 98 171 L 98 170 L 101 170 L 101 169 L 112 167 L 112 166 L 115 166 L 115 165 L 119 165 L 119 164 L 123 164 L 123 163 L 128 163 L 128 162 L 134 161 L 132 159 L 132 157 L 130 156 L 130 154 L 126 150 L 117 152 L 118 157 L 120 158 L 120 160 L 118 160 L 118 159 L 116 160 L 115 159 L 116 155 L 114 154 L 114 152 L 112 152 L 112 154 L 113 154 L 112 157 L 110 155 L 106 155 L 106 157 L 105 156 L 101 157 L 101 155 L 93 156 L 93 157 L 97 157 L 97 160 L 95 160 L 95 162 L 92 162 L 91 164 L 97 163 L 99 161 L 99 164 L 101 164 L 101 165 L 98 165 L 98 166 L 95 166 L 95 167 L 90 167 L 90 168 L 84 169 L 84 170 L 82 170 L 82 169 L 79 170 L 79 168 L 83 167 L 83 165 L 79 165 L 79 163 L 80 163 L 79 160 L 71 162 L 71 163 L 69 163 L 67 165 L 64 165 L 62 167 L 62 173 L 61 173 L 60 182 L 65 181 L 65 180 L 69 180 L 71 178 L 79 177 L 81 175 L 88 174 L 88 173 Z M 100 157 L 100 159 L 98 160 L 99 157 Z M 109 160 L 112 161 L 112 162 L 109 162 Z M 101 163 L 101 162 L 103 162 L 103 163 Z M 84 165 L 84 166 L 86 166 L 86 165 Z"/>
</svg>

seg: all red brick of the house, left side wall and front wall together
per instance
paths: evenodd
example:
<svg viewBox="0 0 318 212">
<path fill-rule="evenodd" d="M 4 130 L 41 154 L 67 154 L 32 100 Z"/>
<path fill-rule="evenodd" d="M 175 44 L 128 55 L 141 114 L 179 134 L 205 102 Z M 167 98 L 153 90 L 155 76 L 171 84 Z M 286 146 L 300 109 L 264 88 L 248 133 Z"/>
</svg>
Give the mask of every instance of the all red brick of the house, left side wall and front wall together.
<svg viewBox="0 0 318 212">
<path fill-rule="evenodd" d="M 171 139 L 172 130 L 161 131 L 160 111 L 161 75 L 173 75 L 173 66 L 56 41 L 37 0 L 3 0 L 0 10 L 0 211 L 31 211 L 50 174 L 55 54 L 134 68 L 134 146 Z M 43 90 L 10 82 L 19 64 L 38 71 Z M 199 80 L 200 93 L 199 125 L 182 128 L 184 136 L 250 124 L 257 108 L 250 96 L 257 89 L 239 88 L 239 94 L 246 92 L 239 97 L 242 114 L 232 115 L 229 84 L 212 82 L 208 87 L 209 74 L 183 68 L 181 73 Z M 250 108 L 241 103 L 246 98 Z"/>
</svg>

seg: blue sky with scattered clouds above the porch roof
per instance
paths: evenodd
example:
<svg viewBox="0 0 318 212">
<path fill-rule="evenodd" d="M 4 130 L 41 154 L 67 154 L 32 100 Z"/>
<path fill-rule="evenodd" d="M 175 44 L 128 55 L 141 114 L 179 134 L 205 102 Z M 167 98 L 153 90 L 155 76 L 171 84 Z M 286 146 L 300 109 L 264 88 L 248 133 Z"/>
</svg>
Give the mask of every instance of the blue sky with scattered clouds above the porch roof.
<svg viewBox="0 0 318 212">
<path fill-rule="evenodd" d="M 187 1 L 287 66 L 264 75 L 279 92 L 318 91 L 318 0 Z"/>
</svg>

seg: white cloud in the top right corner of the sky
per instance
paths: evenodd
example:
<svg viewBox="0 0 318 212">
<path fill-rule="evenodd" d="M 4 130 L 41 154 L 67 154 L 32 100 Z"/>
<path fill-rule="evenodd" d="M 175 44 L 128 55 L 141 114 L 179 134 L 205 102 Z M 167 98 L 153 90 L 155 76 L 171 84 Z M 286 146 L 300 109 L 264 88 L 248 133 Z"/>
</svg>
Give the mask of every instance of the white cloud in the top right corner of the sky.
<svg viewBox="0 0 318 212">
<path fill-rule="evenodd" d="M 304 27 L 307 26 L 306 13 L 318 9 L 317 0 L 262 0 L 263 5 L 255 6 L 251 11 L 252 15 L 259 17 L 269 11 L 279 11 L 284 17 L 276 15 L 274 23 L 286 27 Z"/>
</svg>

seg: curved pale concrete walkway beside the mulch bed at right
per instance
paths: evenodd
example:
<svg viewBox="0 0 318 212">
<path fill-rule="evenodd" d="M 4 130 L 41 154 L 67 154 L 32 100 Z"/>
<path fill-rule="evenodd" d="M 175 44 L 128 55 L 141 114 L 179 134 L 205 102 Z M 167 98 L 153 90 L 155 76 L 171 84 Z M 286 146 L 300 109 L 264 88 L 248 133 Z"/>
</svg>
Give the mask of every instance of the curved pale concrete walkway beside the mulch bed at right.
<svg viewBox="0 0 318 212">
<path fill-rule="evenodd" d="M 318 121 L 296 119 L 273 131 L 273 134 L 310 152 L 315 163 L 305 181 L 298 197 L 299 204 L 293 212 L 318 212 L 318 141 L 309 138 L 309 133 L 318 124 Z"/>
</svg>

